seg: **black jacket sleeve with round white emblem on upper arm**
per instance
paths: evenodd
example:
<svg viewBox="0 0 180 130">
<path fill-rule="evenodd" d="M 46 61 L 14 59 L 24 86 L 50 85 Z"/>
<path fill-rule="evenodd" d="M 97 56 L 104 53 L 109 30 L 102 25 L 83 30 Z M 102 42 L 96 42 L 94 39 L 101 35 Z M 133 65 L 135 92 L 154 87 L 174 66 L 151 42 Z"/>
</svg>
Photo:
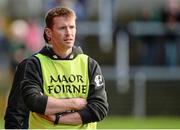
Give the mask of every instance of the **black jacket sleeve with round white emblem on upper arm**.
<svg viewBox="0 0 180 130">
<path fill-rule="evenodd" d="M 87 107 L 79 111 L 83 124 L 102 120 L 107 116 L 108 102 L 105 80 L 98 63 L 89 58 L 89 93 Z"/>
</svg>

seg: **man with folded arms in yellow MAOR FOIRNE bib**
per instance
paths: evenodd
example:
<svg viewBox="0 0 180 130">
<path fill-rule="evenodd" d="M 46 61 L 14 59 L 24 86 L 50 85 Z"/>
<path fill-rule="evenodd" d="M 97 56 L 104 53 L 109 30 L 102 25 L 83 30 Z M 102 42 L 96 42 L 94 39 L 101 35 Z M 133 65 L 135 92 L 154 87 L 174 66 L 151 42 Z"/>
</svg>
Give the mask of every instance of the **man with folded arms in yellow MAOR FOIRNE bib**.
<svg viewBox="0 0 180 130">
<path fill-rule="evenodd" d="M 108 111 L 100 66 L 74 46 L 73 10 L 53 8 L 45 22 L 48 44 L 18 65 L 5 128 L 24 128 L 30 111 L 29 128 L 95 129 Z"/>
</svg>

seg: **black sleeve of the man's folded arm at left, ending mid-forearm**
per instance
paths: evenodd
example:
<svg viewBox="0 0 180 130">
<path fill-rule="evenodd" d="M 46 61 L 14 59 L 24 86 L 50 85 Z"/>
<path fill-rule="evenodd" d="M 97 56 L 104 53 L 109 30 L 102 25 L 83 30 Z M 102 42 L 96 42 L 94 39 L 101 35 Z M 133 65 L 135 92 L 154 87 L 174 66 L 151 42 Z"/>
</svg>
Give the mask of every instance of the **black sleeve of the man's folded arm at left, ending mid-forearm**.
<svg viewBox="0 0 180 130">
<path fill-rule="evenodd" d="M 20 86 L 26 106 L 32 112 L 44 114 L 48 97 L 42 95 L 43 81 L 39 60 L 36 58 L 36 60 L 24 61 L 20 69 L 23 70 Z"/>
</svg>

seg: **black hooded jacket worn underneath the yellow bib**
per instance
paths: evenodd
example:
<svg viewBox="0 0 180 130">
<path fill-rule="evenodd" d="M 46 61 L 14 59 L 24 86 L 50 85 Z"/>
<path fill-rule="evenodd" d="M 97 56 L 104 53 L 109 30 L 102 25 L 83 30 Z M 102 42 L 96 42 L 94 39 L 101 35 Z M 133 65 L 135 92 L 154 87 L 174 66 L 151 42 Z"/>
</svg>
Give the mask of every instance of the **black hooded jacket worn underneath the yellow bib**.
<svg viewBox="0 0 180 130">
<path fill-rule="evenodd" d="M 39 53 L 55 60 L 61 59 L 48 46 Z M 74 58 L 79 53 L 82 53 L 80 48 L 74 47 L 73 52 L 66 59 Z M 98 63 L 90 57 L 88 57 L 88 69 L 90 79 L 88 104 L 79 111 L 83 124 L 100 121 L 108 112 L 105 81 L 103 79 L 102 85 L 97 86 L 95 76 L 102 75 L 102 72 Z M 40 94 L 43 93 L 42 81 L 40 62 L 34 55 L 18 65 L 4 117 L 6 129 L 28 128 L 29 111 L 44 114 L 48 97 Z"/>
</svg>

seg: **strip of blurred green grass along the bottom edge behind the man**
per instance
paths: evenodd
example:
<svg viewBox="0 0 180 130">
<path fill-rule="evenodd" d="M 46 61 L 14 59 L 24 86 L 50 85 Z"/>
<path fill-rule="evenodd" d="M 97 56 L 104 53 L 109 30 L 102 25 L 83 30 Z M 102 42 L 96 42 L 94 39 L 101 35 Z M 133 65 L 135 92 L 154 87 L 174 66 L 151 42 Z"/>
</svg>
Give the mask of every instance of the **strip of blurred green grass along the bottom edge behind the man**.
<svg viewBox="0 0 180 130">
<path fill-rule="evenodd" d="M 180 117 L 149 117 L 135 119 L 133 117 L 111 116 L 99 122 L 98 129 L 180 129 Z M 4 122 L 0 120 L 0 129 Z"/>
</svg>

